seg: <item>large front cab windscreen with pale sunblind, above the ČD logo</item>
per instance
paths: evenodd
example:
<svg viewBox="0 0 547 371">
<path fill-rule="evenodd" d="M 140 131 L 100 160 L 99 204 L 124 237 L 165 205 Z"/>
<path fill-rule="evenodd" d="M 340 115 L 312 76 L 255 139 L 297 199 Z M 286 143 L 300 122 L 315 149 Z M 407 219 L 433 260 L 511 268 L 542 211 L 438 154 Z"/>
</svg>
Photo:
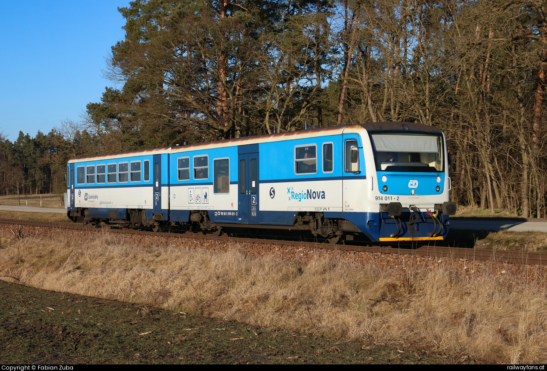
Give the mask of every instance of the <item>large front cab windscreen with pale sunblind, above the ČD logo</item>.
<svg viewBox="0 0 547 371">
<path fill-rule="evenodd" d="M 443 171 L 443 141 L 437 135 L 372 134 L 376 170 Z"/>
</svg>

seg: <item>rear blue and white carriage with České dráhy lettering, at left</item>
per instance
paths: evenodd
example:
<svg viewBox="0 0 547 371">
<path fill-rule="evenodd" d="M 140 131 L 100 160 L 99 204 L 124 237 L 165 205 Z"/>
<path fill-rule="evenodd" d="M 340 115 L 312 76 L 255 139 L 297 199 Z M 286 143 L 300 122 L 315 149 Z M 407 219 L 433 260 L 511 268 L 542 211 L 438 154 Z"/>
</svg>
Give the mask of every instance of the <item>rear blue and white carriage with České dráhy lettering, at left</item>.
<svg viewBox="0 0 547 371">
<path fill-rule="evenodd" d="M 167 220 L 167 152 L 156 148 L 68 161 L 68 217 L 85 224 L 142 223 L 154 215 Z"/>
</svg>

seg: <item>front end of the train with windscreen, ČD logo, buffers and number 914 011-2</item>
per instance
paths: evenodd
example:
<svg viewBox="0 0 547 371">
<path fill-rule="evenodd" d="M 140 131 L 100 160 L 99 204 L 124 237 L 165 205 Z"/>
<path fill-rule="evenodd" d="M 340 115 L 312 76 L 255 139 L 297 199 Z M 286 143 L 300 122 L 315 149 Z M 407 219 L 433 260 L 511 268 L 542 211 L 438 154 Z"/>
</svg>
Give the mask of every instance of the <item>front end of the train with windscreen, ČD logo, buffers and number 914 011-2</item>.
<svg viewBox="0 0 547 371">
<path fill-rule="evenodd" d="M 374 159 L 367 164 L 374 181 L 366 230 L 380 242 L 444 240 L 456 204 L 443 132 L 415 123 L 363 126 L 370 145 L 364 150 Z"/>
</svg>

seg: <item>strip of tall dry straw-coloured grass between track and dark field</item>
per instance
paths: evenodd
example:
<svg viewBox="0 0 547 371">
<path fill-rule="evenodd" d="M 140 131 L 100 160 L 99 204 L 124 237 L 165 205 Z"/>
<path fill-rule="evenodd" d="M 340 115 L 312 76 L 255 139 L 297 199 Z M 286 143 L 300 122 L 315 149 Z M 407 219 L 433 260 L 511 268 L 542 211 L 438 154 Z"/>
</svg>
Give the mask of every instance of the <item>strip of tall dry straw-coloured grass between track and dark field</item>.
<svg viewBox="0 0 547 371">
<path fill-rule="evenodd" d="M 383 342 L 412 342 L 483 362 L 547 361 L 545 282 L 450 264 L 356 263 L 335 252 L 287 261 L 188 248 L 131 236 L 65 231 L 21 240 L 2 229 L 0 276 L 25 285 L 266 327 Z M 195 243 L 195 241 L 194 241 Z M 207 243 L 201 242 L 202 244 Z M 472 264 L 472 263 L 471 263 Z"/>
</svg>

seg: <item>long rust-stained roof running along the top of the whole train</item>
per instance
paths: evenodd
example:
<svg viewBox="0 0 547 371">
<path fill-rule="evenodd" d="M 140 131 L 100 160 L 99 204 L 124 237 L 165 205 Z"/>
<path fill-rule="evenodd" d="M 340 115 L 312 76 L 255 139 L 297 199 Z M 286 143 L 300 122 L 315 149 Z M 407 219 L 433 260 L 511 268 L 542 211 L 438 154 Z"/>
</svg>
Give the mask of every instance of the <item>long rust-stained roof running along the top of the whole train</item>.
<svg viewBox="0 0 547 371">
<path fill-rule="evenodd" d="M 406 129 L 404 126 L 408 127 L 408 129 Z M 321 133 L 322 135 L 339 135 L 339 134 L 343 134 L 347 132 L 353 132 L 353 130 L 362 130 L 362 129 L 365 129 L 367 131 L 400 131 L 400 132 L 411 130 L 411 131 L 430 132 L 434 134 L 440 134 L 442 132 L 438 127 L 422 125 L 417 123 L 405 123 L 402 121 L 401 122 L 379 122 L 379 123 L 364 123 L 364 124 L 352 124 L 352 125 L 337 125 L 337 126 L 319 127 L 318 129 L 287 131 L 287 132 L 282 132 L 278 134 L 266 134 L 266 135 L 252 136 L 252 137 L 226 139 L 222 141 L 194 143 L 194 144 L 187 144 L 186 146 L 137 149 L 137 150 L 128 150 L 125 152 L 82 156 L 82 157 L 76 157 L 71 160 L 68 160 L 68 163 L 70 164 L 70 163 L 81 162 L 86 160 L 89 160 L 89 161 L 109 160 L 109 159 L 120 158 L 120 157 L 143 156 L 143 155 L 154 155 L 154 154 L 164 154 L 164 153 L 178 153 L 178 152 L 187 152 L 189 150 L 196 150 L 196 149 L 244 146 L 245 144 L 268 143 L 268 142 L 287 141 L 287 140 L 299 139 L 299 138 L 315 137 L 319 133 Z"/>
</svg>

